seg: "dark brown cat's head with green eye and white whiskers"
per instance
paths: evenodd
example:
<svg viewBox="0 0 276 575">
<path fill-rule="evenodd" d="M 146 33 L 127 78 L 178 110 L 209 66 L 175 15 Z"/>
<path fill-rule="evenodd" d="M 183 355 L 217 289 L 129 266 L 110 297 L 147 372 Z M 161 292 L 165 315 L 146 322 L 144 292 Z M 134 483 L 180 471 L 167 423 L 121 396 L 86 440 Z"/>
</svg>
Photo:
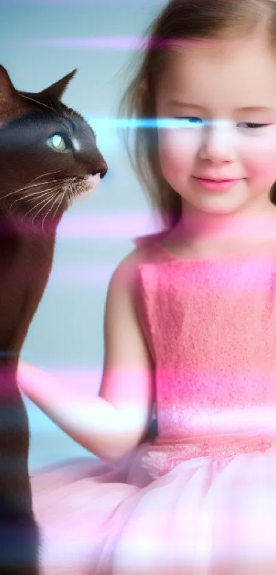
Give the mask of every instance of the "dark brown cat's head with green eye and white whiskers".
<svg viewBox="0 0 276 575">
<path fill-rule="evenodd" d="M 75 72 L 29 93 L 0 66 L 0 212 L 18 223 L 55 228 L 108 170 L 95 132 L 61 101 Z"/>
</svg>

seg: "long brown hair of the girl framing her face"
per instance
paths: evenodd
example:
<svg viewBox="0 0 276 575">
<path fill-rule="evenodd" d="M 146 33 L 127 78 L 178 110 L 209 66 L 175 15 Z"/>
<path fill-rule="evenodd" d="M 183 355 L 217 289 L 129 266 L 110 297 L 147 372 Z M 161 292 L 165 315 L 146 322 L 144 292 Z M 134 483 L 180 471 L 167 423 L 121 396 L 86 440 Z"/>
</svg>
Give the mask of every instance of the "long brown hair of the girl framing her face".
<svg viewBox="0 0 276 575">
<path fill-rule="evenodd" d="M 168 54 L 177 47 L 185 49 L 191 42 L 242 38 L 262 24 L 271 49 L 275 49 L 276 0 L 171 0 L 147 29 L 140 55 L 129 64 L 134 77 L 121 99 L 118 117 L 130 125 L 134 121 L 136 128 L 124 127 L 122 136 L 131 166 L 165 230 L 181 218 L 181 197 L 162 176 L 158 132 L 154 124 L 147 127 L 147 119 L 156 116 L 155 89 Z M 276 182 L 271 201 L 276 204 Z"/>
</svg>

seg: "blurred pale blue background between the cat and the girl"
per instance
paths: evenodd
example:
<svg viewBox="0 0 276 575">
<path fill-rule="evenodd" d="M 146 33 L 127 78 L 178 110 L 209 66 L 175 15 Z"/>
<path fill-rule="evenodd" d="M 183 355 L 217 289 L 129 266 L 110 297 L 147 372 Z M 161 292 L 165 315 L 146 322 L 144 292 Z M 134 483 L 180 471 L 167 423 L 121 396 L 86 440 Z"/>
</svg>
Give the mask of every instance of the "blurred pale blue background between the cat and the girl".
<svg viewBox="0 0 276 575">
<path fill-rule="evenodd" d="M 90 198 L 75 204 L 58 229 L 51 278 L 22 358 L 68 385 L 97 393 L 103 367 L 108 282 L 153 230 L 150 206 L 136 180 L 116 114 L 130 77 L 131 54 L 164 0 L 0 0 L 0 63 L 18 90 L 38 92 L 77 68 L 63 101 L 90 123 L 109 173 Z M 32 470 L 91 456 L 25 397 Z"/>
</svg>

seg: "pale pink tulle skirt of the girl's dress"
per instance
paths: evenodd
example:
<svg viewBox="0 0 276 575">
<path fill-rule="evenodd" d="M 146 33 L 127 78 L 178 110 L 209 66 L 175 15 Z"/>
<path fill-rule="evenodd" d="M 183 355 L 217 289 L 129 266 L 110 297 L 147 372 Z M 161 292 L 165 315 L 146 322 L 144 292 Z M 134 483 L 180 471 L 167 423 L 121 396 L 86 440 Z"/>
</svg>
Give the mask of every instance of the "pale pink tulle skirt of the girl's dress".
<svg viewBox="0 0 276 575">
<path fill-rule="evenodd" d="M 276 574 L 275 444 L 182 461 L 145 443 L 36 474 L 32 492 L 41 575 Z"/>
</svg>

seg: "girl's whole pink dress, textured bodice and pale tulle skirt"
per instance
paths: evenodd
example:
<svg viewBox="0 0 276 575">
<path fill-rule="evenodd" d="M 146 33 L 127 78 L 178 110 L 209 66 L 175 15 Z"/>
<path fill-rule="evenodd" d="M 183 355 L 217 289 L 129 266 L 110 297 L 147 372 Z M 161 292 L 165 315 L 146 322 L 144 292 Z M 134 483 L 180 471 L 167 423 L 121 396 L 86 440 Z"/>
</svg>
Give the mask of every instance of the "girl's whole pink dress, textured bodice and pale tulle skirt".
<svg viewBox="0 0 276 575">
<path fill-rule="evenodd" d="M 41 574 L 276 574 L 276 244 L 149 247 L 138 313 L 159 435 L 32 478 Z"/>
</svg>

